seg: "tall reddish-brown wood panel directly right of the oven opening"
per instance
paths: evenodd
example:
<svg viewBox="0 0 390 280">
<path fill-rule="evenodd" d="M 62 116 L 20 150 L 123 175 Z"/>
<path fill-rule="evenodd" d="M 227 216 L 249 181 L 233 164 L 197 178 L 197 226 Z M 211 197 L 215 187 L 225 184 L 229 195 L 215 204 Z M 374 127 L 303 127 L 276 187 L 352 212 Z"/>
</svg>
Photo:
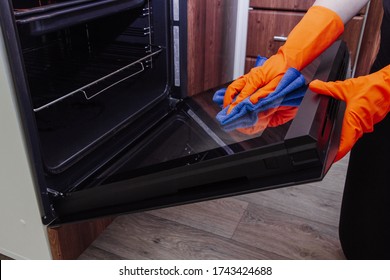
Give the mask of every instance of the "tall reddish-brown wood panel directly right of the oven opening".
<svg viewBox="0 0 390 280">
<path fill-rule="evenodd" d="M 190 0 L 188 5 L 187 95 L 232 79 L 236 1 Z"/>
</svg>

